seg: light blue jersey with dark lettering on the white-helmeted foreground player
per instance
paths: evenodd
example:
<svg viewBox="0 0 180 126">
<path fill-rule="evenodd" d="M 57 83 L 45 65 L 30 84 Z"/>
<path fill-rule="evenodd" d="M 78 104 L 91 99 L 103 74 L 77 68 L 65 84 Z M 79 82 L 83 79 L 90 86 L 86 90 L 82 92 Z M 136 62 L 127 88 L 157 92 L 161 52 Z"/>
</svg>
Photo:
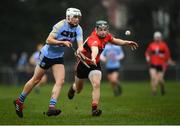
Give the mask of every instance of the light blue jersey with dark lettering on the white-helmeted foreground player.
<svg viewBox="0 0 180 126">
<path fill-rule="evenodd" d="M 54 36 L 57 40 L 67 40 L 70 42 L 83 41 L 82 28 L 80 25 L 71 27 L 64 19 L 54 25 L 53 30 L 49 35 Z M 41 49 L 41 53 L 50 59 L 59 58 L 64 56 L 65 46 L 49 45 L 46 44 Z"/>
</svg>

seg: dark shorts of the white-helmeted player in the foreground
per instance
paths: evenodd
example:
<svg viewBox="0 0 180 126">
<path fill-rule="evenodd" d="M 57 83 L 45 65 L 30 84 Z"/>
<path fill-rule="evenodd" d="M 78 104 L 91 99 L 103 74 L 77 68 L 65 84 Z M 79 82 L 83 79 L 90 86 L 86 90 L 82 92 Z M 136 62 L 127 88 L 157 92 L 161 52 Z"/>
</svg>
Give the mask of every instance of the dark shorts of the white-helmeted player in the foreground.
<svg viewBox="0 0 180 126">
<path fill-rule="evenodd" d="M 49 69 L 51 66 L 53 66 L 54 64 L 64 64 L 64 59 L 63 57 L 59 57 L 59 58 L 54 58 L 54 59 L 50 59 L 45 57 L 42 53 L 39 54 L 39 62 L 38 65 L 47 70 Z"/>
</svg>

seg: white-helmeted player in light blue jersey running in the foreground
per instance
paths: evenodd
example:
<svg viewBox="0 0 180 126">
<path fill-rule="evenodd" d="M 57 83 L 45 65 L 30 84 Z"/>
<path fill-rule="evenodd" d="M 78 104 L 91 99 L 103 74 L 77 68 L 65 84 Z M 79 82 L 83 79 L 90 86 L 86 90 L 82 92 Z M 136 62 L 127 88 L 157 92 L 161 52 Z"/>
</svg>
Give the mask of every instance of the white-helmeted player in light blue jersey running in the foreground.
<svg viewBox="0 0 180 126">
<path fill-rule="evenodd" d="M 46 44 L 41 49 L 33 77 L 25 84 L 20 96 L 14 101 L 16 114 L 19 117 L 23 117 L 23 103 L 26 96 L 41 81 L 46 70 L 50 67 L 55 78 L 55 84 L 52 89 L 49 108 L 45 114 L 47 116 L 57 116 L 61 113 L 61 110 L 57 109 L 55 105 L 65 79 L 64 48 L 65 46 L 70 48 L 73 42 L 77 42 L 77 53 L 83 50 L 83 33 L 79 25 L 81 16 L 79 9 L 68 8 L 66 10 L 66 19 L 54 25 Z"/>
</svg>

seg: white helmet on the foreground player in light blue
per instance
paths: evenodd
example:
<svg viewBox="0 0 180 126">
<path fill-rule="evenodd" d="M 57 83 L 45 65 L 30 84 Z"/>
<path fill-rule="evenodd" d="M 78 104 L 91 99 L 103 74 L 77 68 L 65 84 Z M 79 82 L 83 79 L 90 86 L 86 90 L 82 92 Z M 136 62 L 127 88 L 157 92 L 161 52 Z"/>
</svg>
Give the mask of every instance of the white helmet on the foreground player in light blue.
<svg viewBox="0 0 180 126">
<path fill-rule="evenodd" d="M 66 10 L 66 19 L 72 18 L 73 16 L 82 16 L 81 11 L 77 8 L 68 8 Z"/>
</svg>

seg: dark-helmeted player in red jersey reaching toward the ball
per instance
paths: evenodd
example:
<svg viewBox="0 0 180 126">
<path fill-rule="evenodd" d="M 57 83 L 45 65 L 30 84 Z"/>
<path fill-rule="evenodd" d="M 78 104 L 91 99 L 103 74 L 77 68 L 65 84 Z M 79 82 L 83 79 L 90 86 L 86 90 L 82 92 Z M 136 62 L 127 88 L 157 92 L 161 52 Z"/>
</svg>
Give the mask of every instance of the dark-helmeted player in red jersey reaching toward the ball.
<svg viewBox="0 0 180 126">
<path fill-rule="evenodd" d="M 96 22 L 96 27 L 91 35 L 84 42 L 84 49 L 82 53 L 91 59 L 86 63 L 90 66 L 88 68 L 81 61 L 78 61 L 76 66 L 75 82 L 71 86 L 68 92 L 69 99 L 74 97 L 75 93 L 80 93 L 83 88 L 84 79 L 89 78 L 93 90 L 92 90 L 92 116 L 100 116 L 102 111 L 97 108 L 100 99 L 100 82 L 101 82 L 101 66 L 100 66 L 100 54 L 102 53 L 105 45 L 110 42 L 116 45 L 127 45 L 132 49 L 136 49 L 138 44 L 133 41 L 122 40 L 113 37 L 109 33 L 108 23 L 104 20 Z"/>
</svg>

